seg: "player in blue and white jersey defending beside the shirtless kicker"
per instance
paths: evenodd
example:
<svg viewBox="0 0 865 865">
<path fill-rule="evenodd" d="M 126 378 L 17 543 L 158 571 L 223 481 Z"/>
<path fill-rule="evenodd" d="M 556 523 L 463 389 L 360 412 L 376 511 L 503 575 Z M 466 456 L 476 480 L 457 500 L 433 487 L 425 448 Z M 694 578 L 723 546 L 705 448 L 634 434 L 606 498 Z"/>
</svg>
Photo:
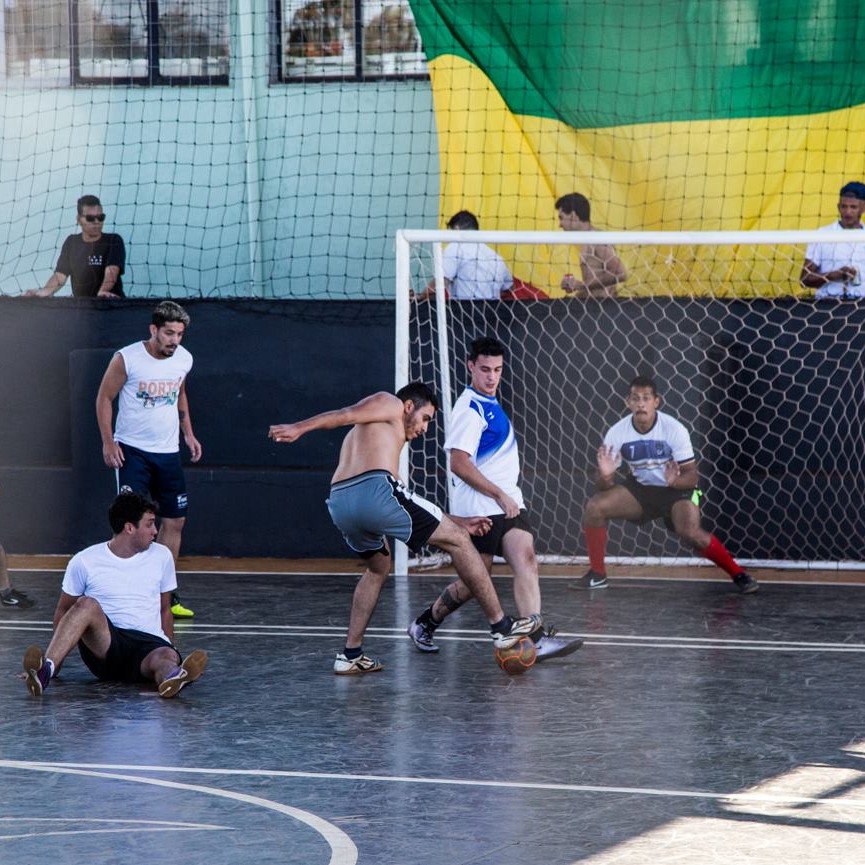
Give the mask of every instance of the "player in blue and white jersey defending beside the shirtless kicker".
<svg viewBox="0 0 865 865">
<path fill-rule="evenodd" d="M 514 572 L 514 596 L 521 616 L 540 615 L 541 590 L 534 532 L 519 487 L 520 458 L 514 428 L 496 398 L 504 369 L 505 347 L 497 339 L 472 342 L 468 359 L 471 385 L 456 401 L 445 441 L 453 474 L 450 511 L 457 516 L 483 514 L 492 529 L 472 537 L 487 571 L 493 556 L 504 556 Z M 470 600 L 462 580 L 451 583 L 420 616 L 408 633 L 422 652 L 437 652 L 435 629 L 445 617 Z M 582 640 L 562 640 L 552 630 L 531 635 L 539 661 L 568 655 Z"/>
</svg>

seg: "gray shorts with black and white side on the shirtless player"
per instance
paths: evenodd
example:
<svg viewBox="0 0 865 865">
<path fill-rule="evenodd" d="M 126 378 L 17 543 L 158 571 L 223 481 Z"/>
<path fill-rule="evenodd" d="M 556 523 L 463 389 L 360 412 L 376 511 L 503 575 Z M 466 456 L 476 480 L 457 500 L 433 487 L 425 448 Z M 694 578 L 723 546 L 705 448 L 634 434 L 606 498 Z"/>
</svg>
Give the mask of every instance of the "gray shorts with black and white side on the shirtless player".
<svg viewBox="0 0 865 865">
<path fill-rule="evenodd" d="M 364 472 L 330 488 L 327 509 L 345 542 L 361 558 L 390 555 L 387 537 L 417 552 L 439 527 L 441 509 L 409 492 L 389 472 Z"/>
</svg>

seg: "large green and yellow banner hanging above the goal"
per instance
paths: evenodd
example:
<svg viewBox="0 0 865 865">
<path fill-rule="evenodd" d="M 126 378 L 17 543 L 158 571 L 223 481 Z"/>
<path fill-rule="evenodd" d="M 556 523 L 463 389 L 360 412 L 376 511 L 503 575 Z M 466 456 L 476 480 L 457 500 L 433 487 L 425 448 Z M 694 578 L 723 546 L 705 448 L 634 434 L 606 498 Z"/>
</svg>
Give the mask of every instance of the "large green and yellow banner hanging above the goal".
<svg viewBox="0 0 865 865">
<path fill-rule="evenodd" d="M 411 6 L 442 224 L 468 209 L 483 229 L 556 230 L 555 200 L 581 192 L 606 230 L 816 228 L 865 179 L 861 0 Z M 510 252 L 551 296 L 578 266 L 566 248 L 522 264 Z M 800 266 L 768 282 L 789 293 Z"/>
</svg>

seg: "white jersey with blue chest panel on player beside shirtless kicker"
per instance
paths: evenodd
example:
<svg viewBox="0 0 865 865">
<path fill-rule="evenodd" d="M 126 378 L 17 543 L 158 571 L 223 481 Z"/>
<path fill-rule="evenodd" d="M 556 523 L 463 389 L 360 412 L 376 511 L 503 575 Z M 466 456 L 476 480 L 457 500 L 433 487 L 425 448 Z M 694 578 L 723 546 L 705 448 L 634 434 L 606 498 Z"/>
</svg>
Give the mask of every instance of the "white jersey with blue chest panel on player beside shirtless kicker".
<svg viewBox="0 0 865 865">
<path fill-rule="evenodd" d="M 493 396 L 466 388 L 454 404 L 445 450 L 471 455 L 478 471 L 525 507 L 519 488 L 520 457 L 514 428 L 505 410 Z M 462 478 L 453 475 L 448 510 L 458 517 L 502 514 L 499 503 L 479 493 Z"/>
</svg>

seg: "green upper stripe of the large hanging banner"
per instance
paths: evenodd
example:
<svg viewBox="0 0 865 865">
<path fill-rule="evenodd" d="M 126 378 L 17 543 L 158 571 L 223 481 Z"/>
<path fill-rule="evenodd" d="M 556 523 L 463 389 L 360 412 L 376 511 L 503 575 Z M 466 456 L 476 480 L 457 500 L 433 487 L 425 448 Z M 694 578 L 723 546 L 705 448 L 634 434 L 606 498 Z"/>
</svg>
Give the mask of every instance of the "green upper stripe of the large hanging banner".
<svg viewBox="0 0 865 865">
<path fill-rule="evenodd" d="M 865 103 L 862 0 L 411 0 L 430 60 L 575 128 Z"/>
</svg>

